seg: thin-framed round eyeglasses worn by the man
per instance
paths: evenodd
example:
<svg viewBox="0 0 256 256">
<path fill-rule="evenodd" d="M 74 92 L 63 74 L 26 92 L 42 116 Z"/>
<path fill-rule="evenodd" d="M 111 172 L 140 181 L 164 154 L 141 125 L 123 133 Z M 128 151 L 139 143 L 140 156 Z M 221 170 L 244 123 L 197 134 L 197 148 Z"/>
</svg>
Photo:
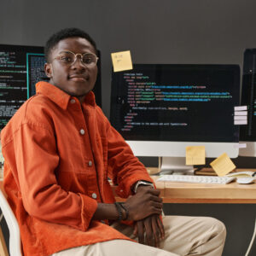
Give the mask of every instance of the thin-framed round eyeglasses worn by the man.
<svg viewBox="0 0 256 256">
<path fill-rule="evenodd" d="M 95 67 L 98 61 L 98 57 L 93 53 L 74 54 L 72 51 L 61 51 L 61 53 L 55 56 L 54 60 L 59 60 L 66 65 L 73 65 L 79 56 L 80 61 L 86 67 Z"/>
</svg>

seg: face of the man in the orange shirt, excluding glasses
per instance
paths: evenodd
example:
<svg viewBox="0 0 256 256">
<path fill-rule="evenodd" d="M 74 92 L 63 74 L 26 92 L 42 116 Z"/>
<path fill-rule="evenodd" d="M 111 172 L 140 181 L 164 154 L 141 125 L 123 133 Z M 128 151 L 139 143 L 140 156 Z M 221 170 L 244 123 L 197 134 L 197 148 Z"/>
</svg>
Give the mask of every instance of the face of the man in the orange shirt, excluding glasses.
<svg viewBox="0 0 256 256">
<path fill-rule="evenodd" d="M 94 47 L 84 38 L 66 38 L 56 44 L 49 55 L 50 63 L 46 63 L 44 70 L 49 77 L 49 83 L 54 84 L 71 96 L 79 98 L 80 102 L 84 96 L 93 89 L 96 82 L 97 67 L 85 66 L 80 58 L 72 64 L 55 59 L 61 52 L 71 51 L 74 54 L 93 53 Z"/>
</svg>

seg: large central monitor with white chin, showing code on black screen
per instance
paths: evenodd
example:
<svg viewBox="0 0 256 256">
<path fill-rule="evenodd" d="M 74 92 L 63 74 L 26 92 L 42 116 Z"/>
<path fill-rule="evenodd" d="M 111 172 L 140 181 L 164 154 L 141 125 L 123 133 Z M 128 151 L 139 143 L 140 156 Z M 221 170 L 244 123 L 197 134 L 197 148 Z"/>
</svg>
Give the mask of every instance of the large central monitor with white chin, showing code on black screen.
<svg viewBox="0 0 256 256">
<path fill-rule="evenodd" d="M 191 170 L 186 146 L 237 157 L 239 95 L 238 65 L 134 64 L 112 74 L 110 120 L 137 156 L 161 157 L 162 170 Z"/>
</svg>

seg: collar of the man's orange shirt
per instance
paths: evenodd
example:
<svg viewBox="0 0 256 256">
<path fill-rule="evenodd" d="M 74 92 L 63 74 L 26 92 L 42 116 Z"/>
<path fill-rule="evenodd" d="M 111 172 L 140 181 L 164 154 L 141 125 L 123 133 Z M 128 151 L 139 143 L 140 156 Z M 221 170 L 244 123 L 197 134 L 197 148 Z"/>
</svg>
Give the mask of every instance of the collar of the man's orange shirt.
<svg viewBox="0 0 256 256">
<path fill-rule="evenodd" d="M 59 89 L 53 84 L 41 81 L 36 84 L 37 94 L 43 94 L 47 96 L 52 102 L 55 102 L 60 108 L 67 109 L 68 102 L 71 97 L 65 91 Z M 84 103 L 95 107 L 95 96 L 92 91 L 90 91 L 84 98 Z"/>
</svg>

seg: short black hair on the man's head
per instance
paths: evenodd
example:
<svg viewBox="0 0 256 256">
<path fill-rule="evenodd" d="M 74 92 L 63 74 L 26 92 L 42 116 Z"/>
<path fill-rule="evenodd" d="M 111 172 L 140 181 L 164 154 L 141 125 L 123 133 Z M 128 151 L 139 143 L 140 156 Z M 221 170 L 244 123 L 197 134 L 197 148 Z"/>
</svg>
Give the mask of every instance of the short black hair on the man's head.
<svg viewBox="0 0 256 256">
<path fill-rule="evenodd" d="M 84 38 L 88 42 L 90 42 L 90 44 L 96 50 L 96 43 L 92 38 L 90 38 L 90 35 L 88 33 L 75 27 L 64 28 L 59 32 L 55 32 L 55 34 L 53 34 L 46 42 L 44 47 L 44 54 L 47 62 L 50 61 L 49 55 L 51 53 L 51 50 L 55 48 L 56 44 L 66 38 Z"/>
</svg>

